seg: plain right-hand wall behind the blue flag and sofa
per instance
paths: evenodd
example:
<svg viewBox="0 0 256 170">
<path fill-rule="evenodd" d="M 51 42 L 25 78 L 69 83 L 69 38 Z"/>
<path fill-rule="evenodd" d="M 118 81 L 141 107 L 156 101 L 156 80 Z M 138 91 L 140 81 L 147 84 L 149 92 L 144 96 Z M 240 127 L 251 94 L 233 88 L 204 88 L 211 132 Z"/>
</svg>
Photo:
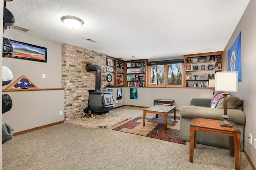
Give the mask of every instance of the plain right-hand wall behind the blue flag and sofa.
<svg viewBox="0 0 256 170">
<path fill-rule="evenodd" d="M 256 138 L 256 1 L 251 0 L 242 16 L 238 26 L 234 30 L 228 44 L 224 49 L 224 59 L 227 70 L 228 50 L 233 45 L 239 32 L 241 32 L 241 51 L 242 51 L 242 82 L 238 83 L 238 92 L 232 93 L 240 97 L 243 101 L 243 109 L 246 114 L 246 124 L 244 134 L 252 134 L 252 145 L 249 144 L 249 138 L 245 138 L 244 147 L 254 165 L 256 165 L 256 150 L 254 150 L 254 138 Z M 231 19 L 231 18 L 230 18 Z"/>
</svg>

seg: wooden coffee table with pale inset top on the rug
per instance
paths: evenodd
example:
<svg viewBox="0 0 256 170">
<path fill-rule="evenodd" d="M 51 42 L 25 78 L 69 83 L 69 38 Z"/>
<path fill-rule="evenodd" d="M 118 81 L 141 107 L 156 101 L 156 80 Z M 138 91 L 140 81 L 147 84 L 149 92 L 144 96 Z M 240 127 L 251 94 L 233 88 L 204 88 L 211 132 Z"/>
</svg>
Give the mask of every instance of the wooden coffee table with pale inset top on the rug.
<svg viewBox="0 0 256 170">
<path fill-rule="evenodd" d="M 146 113 L 156 114 L 156 118 L 159 115 L 164 115 L 164 130 L 167 130 L 167 115 L 174 111 L 174 121 L 176 121 L 176 107 L 165 105 L 154 105 L 148 109 L 143 110 L 143 126 L 145 126 Z"/>
</svg>

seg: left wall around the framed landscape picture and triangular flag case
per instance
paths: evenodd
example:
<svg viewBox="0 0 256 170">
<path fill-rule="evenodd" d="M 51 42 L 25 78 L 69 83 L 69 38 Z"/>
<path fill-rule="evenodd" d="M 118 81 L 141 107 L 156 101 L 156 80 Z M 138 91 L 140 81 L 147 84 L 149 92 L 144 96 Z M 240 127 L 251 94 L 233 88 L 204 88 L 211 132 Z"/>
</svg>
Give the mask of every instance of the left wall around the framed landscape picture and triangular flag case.
<svg viewBox="0 0 256 170">
<path fill-rule="evenodd" d="M 3 58 L 2 65 L 13 73 L 12 82 L 25 75 L 39 89 L 61 88 L 61 44 L 9 29 L 4 37 L 47 48 L 47 63 L 25 59 Z M 46 79 L 42 74 L 46 74 Z M 10 85 L 10 84 L 9 84 Z M 9 85 L 2 86 L 5 89 Z M 3 92 L 12 98 L 12 109 L 2 115 L 14 132 L 64 121 L 64 90 Z M 62 111 L 62 116 L 59 112 Z"/>
</svg>

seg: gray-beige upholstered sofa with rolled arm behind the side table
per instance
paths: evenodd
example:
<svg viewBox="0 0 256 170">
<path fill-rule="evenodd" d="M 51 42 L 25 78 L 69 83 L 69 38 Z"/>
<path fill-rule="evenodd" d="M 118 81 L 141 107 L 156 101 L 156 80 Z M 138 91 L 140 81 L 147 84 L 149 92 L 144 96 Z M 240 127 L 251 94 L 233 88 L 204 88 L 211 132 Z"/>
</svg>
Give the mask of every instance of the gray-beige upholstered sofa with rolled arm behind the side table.
<svg viewBox="0 0 256 170">
<path fill-rule="evenodd" d="M 244 125 L 246 115 L 242 111 L 242 101 L 238 97 L 228 97 L 228 121 L 234 122 L 241 132 L 241 142 L 244 138 Z M 190 106 L 180 108 L 180 139 L 189 141 L 190 123 L 194 117 L 223 120 L 223 99 L 217 104 L 216 108 L 210 108 L 212 99 L 191 98 Z M 232 108 L 232 109 L 231 109 Z M 229 149 L 229 137 L 221 134 L 208 132 L 197 132 L 196 142 L 210 146 Z M 241 151 L 243 151 L 243 144 Z"/>
</svg>

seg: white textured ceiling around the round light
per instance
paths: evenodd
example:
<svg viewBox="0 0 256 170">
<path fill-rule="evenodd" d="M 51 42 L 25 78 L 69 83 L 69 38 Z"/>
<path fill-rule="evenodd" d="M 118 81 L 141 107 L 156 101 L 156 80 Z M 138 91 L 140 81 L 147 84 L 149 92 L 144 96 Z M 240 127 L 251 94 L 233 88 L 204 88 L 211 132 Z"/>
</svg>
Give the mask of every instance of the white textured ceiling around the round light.
<svg viewBox="0 0 256 170">
<path fill-rule="evenodd" d="M 16 26 L 29 30 L 25 34 L 124 60 L 152 61 L 223 51 L 249 1 L 13 0 L 6 8 Z M 66 15 L 84 25 L 66 28 L 60 20 Z"/>
</svg>

